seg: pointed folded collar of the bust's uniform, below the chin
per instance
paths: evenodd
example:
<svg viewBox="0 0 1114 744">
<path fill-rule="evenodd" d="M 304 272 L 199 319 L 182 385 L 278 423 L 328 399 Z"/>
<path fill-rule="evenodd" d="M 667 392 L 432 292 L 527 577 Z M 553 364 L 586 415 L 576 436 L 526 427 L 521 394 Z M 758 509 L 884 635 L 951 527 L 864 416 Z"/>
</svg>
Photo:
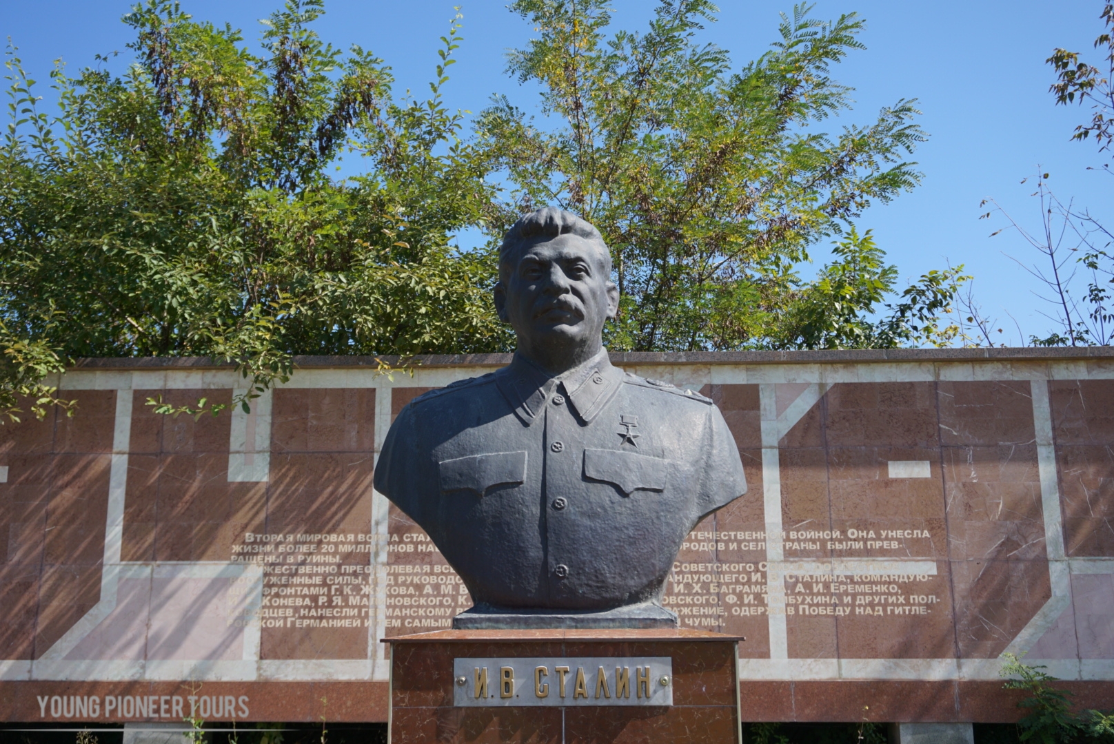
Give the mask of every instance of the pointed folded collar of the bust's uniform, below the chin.
<svg viewBox="0 0 1114 744">
<path fill-rule="evenodd" d="M 516 353 L 510 365 L 496 373 L 496 382 L 515 413 L 527 425 L 540 417 L 555 389 L 559 389 L 577 417 L 588 423 L 619 389 L 623 371 L 612 366 L 606 349 L 556 376 Z"/>
</svg>

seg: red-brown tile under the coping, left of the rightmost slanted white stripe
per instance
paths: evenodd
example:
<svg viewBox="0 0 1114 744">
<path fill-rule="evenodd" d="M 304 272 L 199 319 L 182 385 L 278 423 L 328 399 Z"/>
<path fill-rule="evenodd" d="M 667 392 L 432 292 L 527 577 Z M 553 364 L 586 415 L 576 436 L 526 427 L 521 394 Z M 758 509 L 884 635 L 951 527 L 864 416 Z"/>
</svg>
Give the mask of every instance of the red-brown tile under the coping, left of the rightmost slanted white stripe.
<svg viewBox="0 0 1114 744">
<path fill-rule="evenodd" d="M 1036 439 L 1027 381 L 937 383 L 945 446 L 1028 444 Z"/>
</svg>

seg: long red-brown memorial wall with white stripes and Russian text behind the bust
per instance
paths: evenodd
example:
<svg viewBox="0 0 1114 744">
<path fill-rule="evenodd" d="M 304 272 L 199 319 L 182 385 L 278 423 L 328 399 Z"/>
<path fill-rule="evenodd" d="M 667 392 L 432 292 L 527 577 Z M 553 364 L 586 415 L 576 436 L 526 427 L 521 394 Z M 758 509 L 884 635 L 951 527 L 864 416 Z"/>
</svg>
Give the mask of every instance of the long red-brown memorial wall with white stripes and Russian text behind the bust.
<svg viewBox="0 0 1114 744">
<path fill-rule="evenodd" d="M 743 721 L 1010 721 L 1005 653 L 1114 697 L 1114 349 L 615 354 L 712 398 L 750 490 L 665 606 L 745 636 Z M 471 603 L 372 488 L 409 372 L 305 358 L 252 412 L 229 368 L 92 360 L 74 418 L 0 429 L 0 718 L 385 721 L 381 638 Z M 651 495 L 653 496 L 653 495 Z"/>
</svg>

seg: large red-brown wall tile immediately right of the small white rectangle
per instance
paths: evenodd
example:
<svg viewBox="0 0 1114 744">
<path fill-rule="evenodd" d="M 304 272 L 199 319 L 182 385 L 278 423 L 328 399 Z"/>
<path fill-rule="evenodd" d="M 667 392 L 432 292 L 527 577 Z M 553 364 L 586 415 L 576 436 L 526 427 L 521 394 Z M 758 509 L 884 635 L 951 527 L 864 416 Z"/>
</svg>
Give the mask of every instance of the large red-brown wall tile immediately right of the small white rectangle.
<svg viewBox="0 0 1114 744">
<path fill-rule="evenodd" d="M 1035 444 L 945 447 L 944 463 L 954 559 L 1045 557 Z"/>
</svg>

